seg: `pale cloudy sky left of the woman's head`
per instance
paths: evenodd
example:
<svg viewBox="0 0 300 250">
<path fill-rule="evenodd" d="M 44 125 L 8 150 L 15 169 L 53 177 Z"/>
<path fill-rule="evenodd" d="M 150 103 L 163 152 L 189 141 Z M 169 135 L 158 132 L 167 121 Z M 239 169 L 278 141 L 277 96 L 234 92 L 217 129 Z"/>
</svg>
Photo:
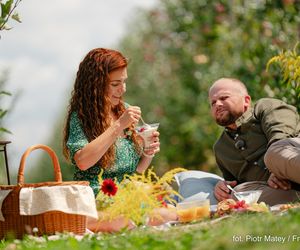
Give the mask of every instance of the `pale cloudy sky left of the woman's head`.
<svg viewBox="0 0 300 250">
<path fill-rule="evenodd" d="M 81 59 L 92 48 L 115 48 L 139 8 L 157 0 L 23 0 L 22 23 L 0 40 L 0 70 L 10 71 L 7 90 L 20 92 L 6 127 L 13 134 L 7 148 L 16 170 L 22 153 L 33 144 L 46 144 Z M 125 52 L 124 52 L 125 53 Z M 125 53 L 126 54 L 126 53 Z M 5 98 L 9 105 L 11 98 Z M 14 181 L 14 180 L 13 180 Z"/>
</svg>

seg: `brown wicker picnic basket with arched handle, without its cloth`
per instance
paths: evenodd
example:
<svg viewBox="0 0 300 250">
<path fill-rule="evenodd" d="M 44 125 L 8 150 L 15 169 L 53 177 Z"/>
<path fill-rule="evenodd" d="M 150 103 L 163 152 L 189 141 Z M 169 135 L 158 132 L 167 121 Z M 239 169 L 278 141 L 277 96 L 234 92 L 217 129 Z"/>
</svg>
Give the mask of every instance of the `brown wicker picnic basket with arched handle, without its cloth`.
<svg viewBox="0 0 300 250">
<path fill-rule="evenodd" d="M 36 149 L 46 151 L 51 157 L 55 182 L 24 183 L 25 160 L 28 155 Z M 88 186 L 87 181 L 62 181 L 60 165 L 55 152 L 45 145 L 34 145 L 28 148 L 23 154 L 18 172 L 17 185 L 3 185 L 0 190 L 12 190 L 4 199 L 2 204 L 2 214 L 5 221 L 0 221 L 0 239 L 8 235 L 22 238 L 24 234 L 34 235 L 52 235 L 56 232 L 73 232 L 75 234 L 84 234 L 86 230 L 86 216 L 78 214 L 67 214 L 60 211 L 50 211 L 38 215 L 20 215 L 19 194 L 25 187 L 51 187 L 64 185 L 84 185 Z M 55 194 L 53 194 L 55 195 Z M 36 229 L 37 230 L 36 230 Z M 37 231 L 37 232 L 36 232 Z"/>
</svg>

